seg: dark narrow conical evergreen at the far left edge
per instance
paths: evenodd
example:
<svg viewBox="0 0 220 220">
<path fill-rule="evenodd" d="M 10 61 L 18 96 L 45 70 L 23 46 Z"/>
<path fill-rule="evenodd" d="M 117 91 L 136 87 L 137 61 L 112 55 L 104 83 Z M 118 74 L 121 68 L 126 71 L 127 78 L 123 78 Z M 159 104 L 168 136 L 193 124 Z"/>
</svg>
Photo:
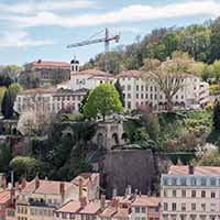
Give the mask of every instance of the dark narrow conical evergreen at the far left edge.
<svg viewBox="0 0 220 220">
<path fill-rule="evenodd" d="M 13 116 L 13 101 L 9 90 L 6 90 L 4 92 L 1 103 L 1 113 L 3 114 L 4 119 L 11 119 Z"/>
</svg>

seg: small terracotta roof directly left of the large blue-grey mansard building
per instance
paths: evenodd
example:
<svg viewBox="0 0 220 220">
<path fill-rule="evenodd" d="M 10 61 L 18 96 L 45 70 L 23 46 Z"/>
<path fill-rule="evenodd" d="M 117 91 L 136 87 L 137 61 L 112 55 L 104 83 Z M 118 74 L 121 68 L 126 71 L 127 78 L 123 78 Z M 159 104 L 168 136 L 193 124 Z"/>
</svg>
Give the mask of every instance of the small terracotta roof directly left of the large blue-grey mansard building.
<svg viewBox="0 0 220 220">
<path fill-rule="evenodd" d="M 138 196 L 132 206 L 158 207 L 160 197 Z"/>
</svg>

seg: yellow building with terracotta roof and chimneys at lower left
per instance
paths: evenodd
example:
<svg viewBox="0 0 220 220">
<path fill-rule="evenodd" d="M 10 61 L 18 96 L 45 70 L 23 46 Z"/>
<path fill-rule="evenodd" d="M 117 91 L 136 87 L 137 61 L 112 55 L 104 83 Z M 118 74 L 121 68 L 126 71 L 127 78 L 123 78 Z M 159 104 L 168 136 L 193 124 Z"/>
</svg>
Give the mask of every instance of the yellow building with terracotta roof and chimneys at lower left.
<svg viewBox="0 0 220 220">
<path fill-rule="evenodd" d="M 72 183 L 36 177 L 23 186 L 16 198 L 16 220 L 53 220 L 57 207 L 78 197 L 79 188 Z"/>
</svg>

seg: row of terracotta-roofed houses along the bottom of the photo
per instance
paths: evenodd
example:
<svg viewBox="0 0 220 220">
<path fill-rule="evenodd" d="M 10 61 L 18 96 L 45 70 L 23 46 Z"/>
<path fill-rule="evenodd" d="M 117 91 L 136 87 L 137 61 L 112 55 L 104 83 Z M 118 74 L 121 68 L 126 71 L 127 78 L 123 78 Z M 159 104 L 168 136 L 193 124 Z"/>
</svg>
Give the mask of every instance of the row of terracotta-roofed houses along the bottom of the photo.
<svg viewBox="0 0 220 220">
<path fill-rule="evenodd" d="M 2 186 L 2 184 L 1 184 Z M 22 179 L 0 191 L 2 220 L 219 220 L 220 167 L 170 166 L 161 176 L 161 197 L 128 186 L 123 196 L 99 196 L 99 174 L 72 182 Z"/>
</svg>

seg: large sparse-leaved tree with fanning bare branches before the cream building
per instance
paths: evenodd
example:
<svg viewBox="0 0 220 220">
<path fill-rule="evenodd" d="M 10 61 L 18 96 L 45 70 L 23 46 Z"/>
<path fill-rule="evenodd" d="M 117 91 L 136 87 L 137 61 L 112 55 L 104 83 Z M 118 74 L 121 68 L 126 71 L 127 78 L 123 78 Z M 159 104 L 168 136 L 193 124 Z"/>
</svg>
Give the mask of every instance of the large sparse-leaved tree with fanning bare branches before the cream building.
<svg viewBox="0 0 220 220">
<path fill-rule="evenodd" d="M 184 87 L 186 74 L 191 74 L 193 59 L 186 53 L 174 53 L 170 61 L 145 59 L 142 78 L 145 81 L 154 80 L 165 95 L 168 110 L 172 109 L 172 99 Z"/>
</svg>

